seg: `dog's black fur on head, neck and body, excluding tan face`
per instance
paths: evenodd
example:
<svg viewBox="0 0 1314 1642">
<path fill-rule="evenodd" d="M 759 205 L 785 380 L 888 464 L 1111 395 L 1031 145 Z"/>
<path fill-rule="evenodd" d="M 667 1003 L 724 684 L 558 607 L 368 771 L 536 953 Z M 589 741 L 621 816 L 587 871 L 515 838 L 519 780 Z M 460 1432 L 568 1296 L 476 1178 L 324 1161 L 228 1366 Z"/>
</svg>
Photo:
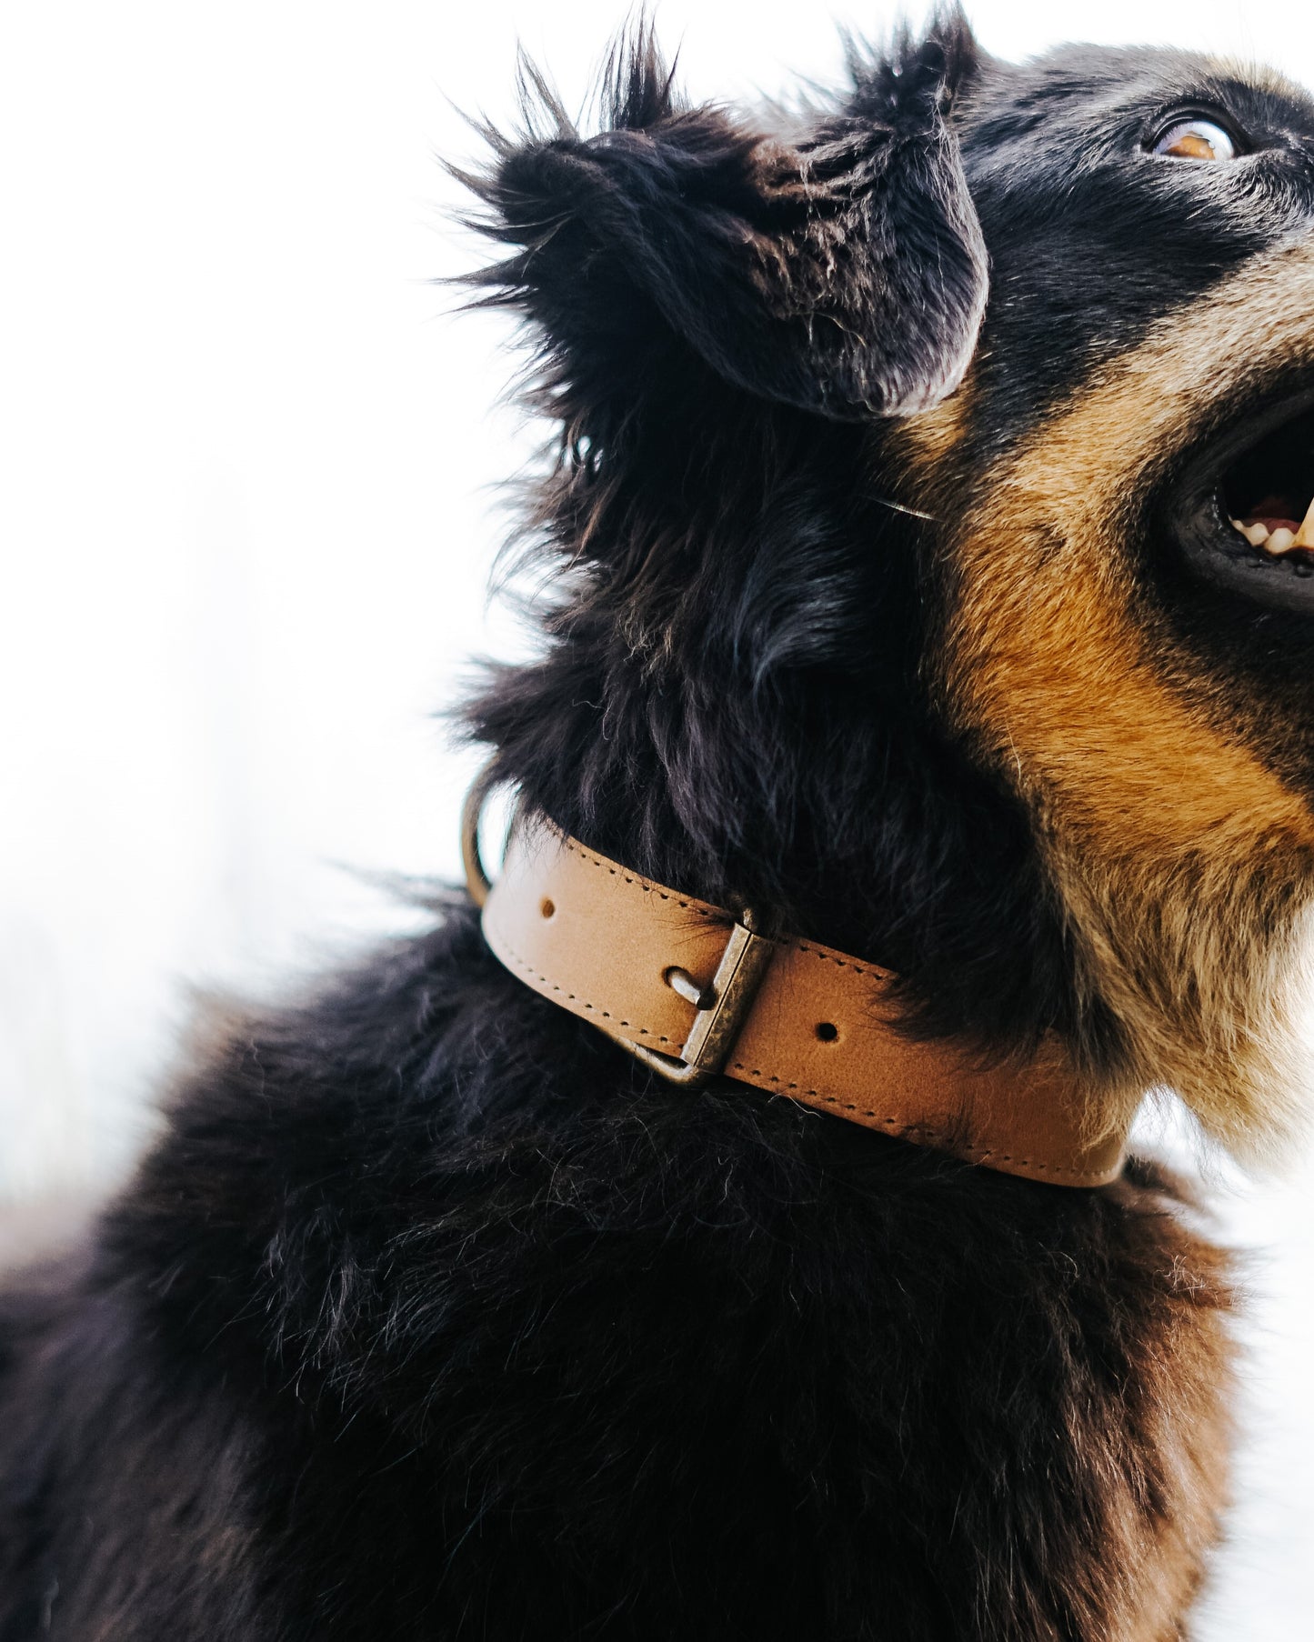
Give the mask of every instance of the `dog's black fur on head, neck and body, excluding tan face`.
<svg viewBox="0 0 1314 1642">
<path fill-rule="evenodd" d="M 895 967 L 910 1030 L 1115 1038 L 943 727 L 882 419 L 956 386 L 986 245 L 982 466 L 1181 299 L 1128 269 L 1202 289 L 1281 232 L 1237 202 L 1197 256 L 1120 169 L 1202 72 L 1012 69 L 948 18 L 783 141 L 680 107 L 644 36 L 604 133 L 540 97 L 471 179 L 562 429 L 544 652 L 473 734 L 586 842 Z M 463 898 L 215 1036 L 94 1245 L 3 1300 L 0 1642 L 1181 1635 L 1227 1294 L 1156 1171 L 1064 1190 L 672 1090 Z M 1119 1629 L 1169 1550 L 1168 1619 Z"/>
</svg>

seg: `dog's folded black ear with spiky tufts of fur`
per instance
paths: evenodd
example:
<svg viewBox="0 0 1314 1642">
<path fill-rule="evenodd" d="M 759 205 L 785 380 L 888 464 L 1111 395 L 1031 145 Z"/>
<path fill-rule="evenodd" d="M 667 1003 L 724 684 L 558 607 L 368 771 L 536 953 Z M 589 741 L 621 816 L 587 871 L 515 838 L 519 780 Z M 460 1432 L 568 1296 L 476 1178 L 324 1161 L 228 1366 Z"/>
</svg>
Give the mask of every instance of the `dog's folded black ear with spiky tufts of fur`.
<svg viewBox="0 0 1314 1642">
<path fill-rule="evenodd" d="M 476 276 L 542 327 L 586 394 L 642 386 L 672 340 L 749 392 L 831 417 L 898 415 L 951 392 L 986 307 L 986 248 L 946 125 L 972 72 L 959 15 L 884 59 L 792 143 L 682 108 L 650 33 L 613 57 L 609 130 L 488 133 L 465 177 L 516 255 Z"/>
</svg>

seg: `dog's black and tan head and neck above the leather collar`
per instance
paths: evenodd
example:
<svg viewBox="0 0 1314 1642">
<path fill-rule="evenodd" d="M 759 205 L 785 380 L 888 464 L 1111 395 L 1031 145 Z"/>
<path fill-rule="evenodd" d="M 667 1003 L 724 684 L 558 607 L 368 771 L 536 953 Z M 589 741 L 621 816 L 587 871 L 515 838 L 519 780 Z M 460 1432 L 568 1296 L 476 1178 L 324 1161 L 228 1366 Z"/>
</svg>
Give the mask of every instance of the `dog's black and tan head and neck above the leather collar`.
<svg viewBox="0 0 1314 1642">
<path fill-rule="evenodd" d="M 577 580 L 480 722 L 613 854 L 1255 1138 L 1314 901 L 1314 105 L 958 16 L 852 69 L 767 128 L 641 43 L 601 135 L 498 140 Z"/>
</svg>

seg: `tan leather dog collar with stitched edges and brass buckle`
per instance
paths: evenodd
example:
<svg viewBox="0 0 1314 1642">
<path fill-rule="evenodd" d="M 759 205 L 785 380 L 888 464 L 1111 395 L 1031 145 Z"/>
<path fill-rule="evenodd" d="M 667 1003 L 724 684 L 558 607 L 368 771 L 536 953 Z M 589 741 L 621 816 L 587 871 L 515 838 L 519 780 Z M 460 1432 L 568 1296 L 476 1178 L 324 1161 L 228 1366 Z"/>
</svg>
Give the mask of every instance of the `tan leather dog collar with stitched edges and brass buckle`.
<svg viewBox="0 0 1314 1642">
<path fill-rule="evenodd" d="M 1031 1181 L 1105 1186 L 1122 1171 L 1125 1133 L 1091 1130 L 1053 1039 L 1005 1064 L 913 1041 L 889 970 L 756 934 L 545 821 L 516 824 L 494 885 L 471 859 L 496 957 L 675 1084 L 719 1074 Z"/>
</svg>

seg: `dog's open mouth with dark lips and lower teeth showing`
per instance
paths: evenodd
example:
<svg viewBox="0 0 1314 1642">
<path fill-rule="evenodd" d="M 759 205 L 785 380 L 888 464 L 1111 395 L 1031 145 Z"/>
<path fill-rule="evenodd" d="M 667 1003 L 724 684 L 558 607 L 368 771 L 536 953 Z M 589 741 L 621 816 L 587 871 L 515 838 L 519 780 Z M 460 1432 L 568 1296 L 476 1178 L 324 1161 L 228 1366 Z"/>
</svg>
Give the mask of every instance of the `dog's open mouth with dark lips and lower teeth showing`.
<svg viewBox="0 0 1314 1642">
<path fill-rule="evenodd" d="M 1171 527 L 1206 581 L 1314 616 L 1314 389 L 1243 415 L 1197 458 Z"/>
</svg>

